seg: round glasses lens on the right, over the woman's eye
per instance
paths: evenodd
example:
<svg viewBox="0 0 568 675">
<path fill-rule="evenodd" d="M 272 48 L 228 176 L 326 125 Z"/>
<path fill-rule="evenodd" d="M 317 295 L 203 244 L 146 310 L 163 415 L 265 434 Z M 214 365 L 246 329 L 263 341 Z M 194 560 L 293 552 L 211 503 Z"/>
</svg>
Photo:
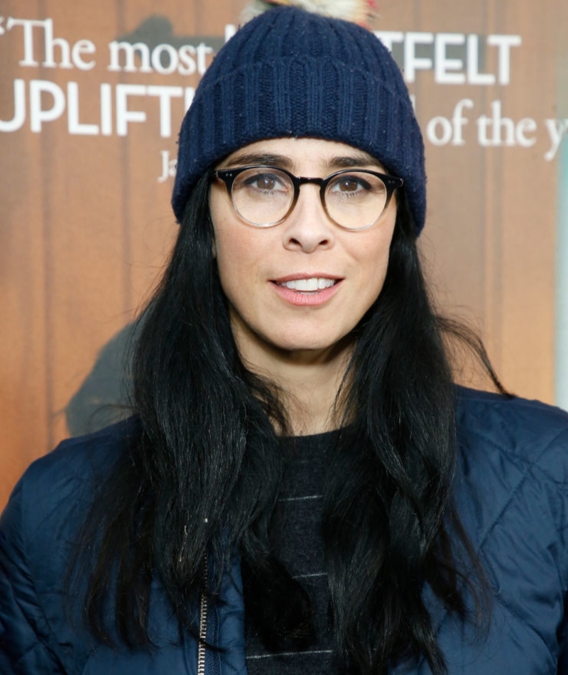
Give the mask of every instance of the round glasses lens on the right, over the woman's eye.
<svg viewBox="0 0 568 675">
<path fill-rule="evenodd" d="M 327 185 L 325 205 L 329 217 L 347 229 L 373 225 L 387 202 L 386 186 L 366 171 L 342 171 Z"/>
</svg>

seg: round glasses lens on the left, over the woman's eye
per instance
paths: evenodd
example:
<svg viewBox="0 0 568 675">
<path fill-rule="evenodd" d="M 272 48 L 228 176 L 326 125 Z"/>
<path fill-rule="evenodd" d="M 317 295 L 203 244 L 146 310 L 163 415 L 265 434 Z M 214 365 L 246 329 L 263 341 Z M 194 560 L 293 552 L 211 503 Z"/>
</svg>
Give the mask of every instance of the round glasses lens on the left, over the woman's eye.
<svg viewBox="0 0 568 675">
<path fill-rule="evenodd" d="M 235 210 L 251 225 L 268 227 L 283 220 L 294 200 L 290 176 L 271 166 L 255 166 L 237 175 L 231 190 Z"/>
</svg>

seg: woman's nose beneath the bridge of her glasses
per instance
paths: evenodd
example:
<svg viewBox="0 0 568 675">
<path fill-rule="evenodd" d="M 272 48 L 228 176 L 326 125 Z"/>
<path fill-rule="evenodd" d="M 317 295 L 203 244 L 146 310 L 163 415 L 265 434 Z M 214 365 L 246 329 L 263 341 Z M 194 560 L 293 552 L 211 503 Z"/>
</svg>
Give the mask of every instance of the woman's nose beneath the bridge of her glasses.
<svg viewBox="0 0 568 675">
<path fill-rule="evenodd" d="M 286 249 L 311 253 L 332 247 L 335 227 L 324 211 L 318 185 L 302 185 L 293 212 L 280 227 Z"/>
</svg>

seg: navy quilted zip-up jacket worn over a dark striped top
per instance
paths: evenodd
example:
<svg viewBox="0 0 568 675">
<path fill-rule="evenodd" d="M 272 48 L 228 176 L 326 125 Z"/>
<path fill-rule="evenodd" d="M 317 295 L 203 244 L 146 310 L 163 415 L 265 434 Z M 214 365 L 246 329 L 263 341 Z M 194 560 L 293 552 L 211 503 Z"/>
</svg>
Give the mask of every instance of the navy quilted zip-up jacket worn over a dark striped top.
<svg viewBox="0 0 568 675">
<path fill-rule="evenodd" d="M 177 639 L 158 579 L 152 652 L 107 649 L 68 621 L 63 608 L 70 541 L 93 482 L 131 429 L 126 422 L 65 441 L 33 463 L 16 486 L 0 521 L 2 675 L 197 675 L 196 641 Z M 456 500 L 494 596 L 491 625 L 480 636 L 425 588 L 449 672 L 568 674 L 568 415 L 534 401 L 459 389 L 458 432 Z M 227 578 L 222 590 L 224 603 L 207 612 L 207 639 L 222 649 L 207 651 L 205 675 L 246 674 L 238 563 L 232 577 L 236 581 Z M 405 672 L 430 670 L 421 662 Z"/>
</svg>

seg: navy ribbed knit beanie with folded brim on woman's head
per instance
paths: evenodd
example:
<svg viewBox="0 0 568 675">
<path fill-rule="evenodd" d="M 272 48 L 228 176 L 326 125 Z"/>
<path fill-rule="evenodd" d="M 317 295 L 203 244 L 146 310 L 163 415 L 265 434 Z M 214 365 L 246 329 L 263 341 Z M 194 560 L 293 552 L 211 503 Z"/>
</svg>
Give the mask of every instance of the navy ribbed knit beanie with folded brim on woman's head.
<svg viewBox="0 0 568 675">
<path fill-rule="evenodd" d="M 180 131 L 172 205 L 236 149 L 283 136 L 342 141 L 404 179 L 424 227 L 424 144 L 398 65 L 370 31 L 293 7 L 257 16 L 207 69 Z"/>
</svg>

